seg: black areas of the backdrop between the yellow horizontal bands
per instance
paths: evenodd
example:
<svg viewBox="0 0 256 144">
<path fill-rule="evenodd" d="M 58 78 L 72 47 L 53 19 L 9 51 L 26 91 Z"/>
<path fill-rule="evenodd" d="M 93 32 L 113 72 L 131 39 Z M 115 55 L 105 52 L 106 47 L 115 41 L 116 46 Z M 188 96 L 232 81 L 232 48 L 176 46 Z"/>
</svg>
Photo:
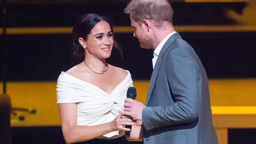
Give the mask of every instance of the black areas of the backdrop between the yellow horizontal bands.
<svg viewBox="0 0 256 144">
<path fill-rule="evenodd" d="M 126 3 L 8 3 L 7 27 L 70 27 L 77 17 L 88 12 L 108 17 L 114 26 L 130 26 L 129 15 L 123 12 L 125 6 Z M 231 8 L 241 12 L 246 4 L 173 3 L 172 6 L 174 26 L 235 25 L 234 20 L 225 17 L 225 10 Z M 2 27 L 2 13 L 0 19 Z M 132 33 L 114 35 L 123 47 L 124 59 L 114 50 L 108 62 L 129 70 L 133 80 L 149 80 L 153 50 L 140 48 Z M 180 35 L 197 52 L 209 79 L 256 77 L 256 32 L 183 32 Z M 72 55 L 72 41 L 71 34 L 8 35 L 8 81 L 56 81 L 61 71 L 82 60 Z M 2 45 L 1 35 L 0 43 Z M 0 52 L 2 56 L 2 46 Z M 255 133 L 253 129 L 230 129 L 229 144 L 252 144 Z M 65 141 L 60 127 L 13 127 L 12 144 L 23 143 L 59 144 Z"/>
</svg>

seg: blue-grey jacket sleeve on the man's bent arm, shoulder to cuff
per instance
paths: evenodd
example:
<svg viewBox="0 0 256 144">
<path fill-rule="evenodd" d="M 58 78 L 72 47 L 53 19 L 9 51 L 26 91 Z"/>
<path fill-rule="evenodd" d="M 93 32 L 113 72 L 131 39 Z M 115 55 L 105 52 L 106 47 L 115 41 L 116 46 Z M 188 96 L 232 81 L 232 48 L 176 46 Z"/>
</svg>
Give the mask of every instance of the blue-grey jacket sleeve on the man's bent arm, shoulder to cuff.
<svg viewBox="0 0 256 144">
<path fill-rule="evenodd" d="M 168 53 L 166 76 L 174 105 L 145 107 L 142 110 L 146 130 L 195 120 L 199 115 L 198 65 L 184 49 Z"/>
</svg>

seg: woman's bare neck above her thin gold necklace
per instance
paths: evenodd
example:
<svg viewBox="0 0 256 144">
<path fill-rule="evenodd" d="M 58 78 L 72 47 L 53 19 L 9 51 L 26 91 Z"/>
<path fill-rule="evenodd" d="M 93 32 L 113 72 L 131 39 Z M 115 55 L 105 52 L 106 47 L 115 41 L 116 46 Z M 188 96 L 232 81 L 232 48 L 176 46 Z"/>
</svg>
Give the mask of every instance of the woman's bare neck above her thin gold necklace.
<svg viewBox="0 0 256 144">
<path fill-rule="evenodd" d="M 106 59 L 100 60 L 92 55 L 86 55 L 84 62 L 89 68 L 99 73 L 107 67 Z"/>
</svg>

